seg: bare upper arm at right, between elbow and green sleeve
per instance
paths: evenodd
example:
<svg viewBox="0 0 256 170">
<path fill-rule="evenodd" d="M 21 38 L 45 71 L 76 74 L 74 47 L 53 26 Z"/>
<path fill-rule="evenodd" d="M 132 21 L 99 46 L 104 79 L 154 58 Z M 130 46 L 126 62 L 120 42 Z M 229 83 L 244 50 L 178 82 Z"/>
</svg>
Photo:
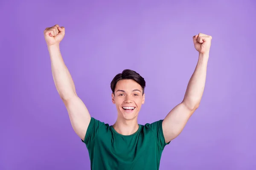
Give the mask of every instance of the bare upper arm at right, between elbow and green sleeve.
<svg viewBox="0 0 256 170">
<path fill-rule="evenodd" d="M 175 139 L 183 130 L 194 110 L 183 103 L 175 106 L 163 120 L 163 135 L 166 142 Z"/>
</svg>

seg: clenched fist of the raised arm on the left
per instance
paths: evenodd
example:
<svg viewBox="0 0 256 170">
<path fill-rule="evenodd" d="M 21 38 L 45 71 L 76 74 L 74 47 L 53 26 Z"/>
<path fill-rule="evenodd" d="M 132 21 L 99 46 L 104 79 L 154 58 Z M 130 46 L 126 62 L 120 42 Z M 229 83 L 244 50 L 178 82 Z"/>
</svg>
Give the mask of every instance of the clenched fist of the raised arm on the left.
<svg viewBox="0 0 256 170">
<path fill-rule="evenodd" d="M 65 28 L 60 27 L 58 24 L 44 30 L 44 38 L 47 45 L 59 44 L 64 38 Z"/>
</svg>

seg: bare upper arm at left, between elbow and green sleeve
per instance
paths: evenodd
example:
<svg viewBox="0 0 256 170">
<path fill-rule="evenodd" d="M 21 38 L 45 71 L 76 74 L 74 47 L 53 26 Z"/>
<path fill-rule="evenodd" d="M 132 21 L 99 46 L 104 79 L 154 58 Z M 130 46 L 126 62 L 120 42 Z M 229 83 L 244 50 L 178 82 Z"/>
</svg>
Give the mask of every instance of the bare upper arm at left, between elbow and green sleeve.
<svg viewBox="0 0 256 170">
<path fill-rule="evenodd" d="M 78 96 L 73 96 L 72 98 L 64 101 L 64 104 L 67 108 L 74 131 L 81 139 L 84 140 L 91 119 L 88 109 Z"/>
</svg>

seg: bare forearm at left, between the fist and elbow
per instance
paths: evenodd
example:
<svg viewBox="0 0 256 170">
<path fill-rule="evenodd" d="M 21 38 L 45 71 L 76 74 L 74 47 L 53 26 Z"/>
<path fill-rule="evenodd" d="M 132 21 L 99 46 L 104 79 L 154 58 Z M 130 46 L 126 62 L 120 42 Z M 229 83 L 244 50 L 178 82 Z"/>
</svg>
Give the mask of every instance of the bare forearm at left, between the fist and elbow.
<svg viewBox="0 0 256 170">
<path fill-rule="evenodd" d="M 55 87 L 62 100 L 67 100 L 76 95 L 76 89 L 70 72 L 67 69 L 62 57 L 59 45 L 48 46 L 52 77 Z"/>
</svg>

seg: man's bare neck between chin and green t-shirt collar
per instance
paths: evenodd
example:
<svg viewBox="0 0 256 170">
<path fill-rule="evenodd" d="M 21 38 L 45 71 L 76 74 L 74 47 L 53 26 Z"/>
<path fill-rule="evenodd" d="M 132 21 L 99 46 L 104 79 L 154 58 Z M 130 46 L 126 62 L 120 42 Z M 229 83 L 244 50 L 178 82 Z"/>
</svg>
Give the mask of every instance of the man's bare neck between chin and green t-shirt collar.
<svg viewBox="0 0 256 170">
<path fill-rule="evenodd" d="M 113 128 L 117 133 L 122 135 L 131 135 L 139 129 L 137 118 L 131 120 L 125 120 L 117 118 Z"/>
</svg>

